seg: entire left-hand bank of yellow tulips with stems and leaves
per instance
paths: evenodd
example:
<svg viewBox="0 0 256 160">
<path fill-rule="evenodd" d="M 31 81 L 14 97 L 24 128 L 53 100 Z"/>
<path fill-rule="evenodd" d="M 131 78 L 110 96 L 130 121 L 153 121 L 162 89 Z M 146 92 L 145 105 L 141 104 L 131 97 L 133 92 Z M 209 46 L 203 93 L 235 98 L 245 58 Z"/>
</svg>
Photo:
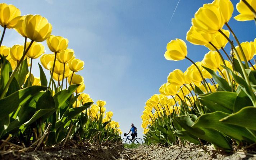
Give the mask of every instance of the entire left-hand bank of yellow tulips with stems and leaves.
<svg viewBox="0 0 256 160">
<path fill-rule="evenodd" d="M 46 18 L 21 16 L 14 5 L 1 3 L 0 14 L 0 44 L 8 34 L 6 28 L 24 37 L 24 44 L 0 46 L 0 149 L 13 141 L 36 149 L 64 147 L 68 141 L 119 142 L 119 124 L 111 119 L 112 111 L 106 112 L 106 101 L 93 104 L 90 95 L 83 93 L 79 71 L 84 62 L 68 48 L 68 39 L 51 35 L 52 25 Z M 52 53 L 45 53 L 43 41 Z M 37 58 L 40 77 L 31 72 Z"/>
</svg>

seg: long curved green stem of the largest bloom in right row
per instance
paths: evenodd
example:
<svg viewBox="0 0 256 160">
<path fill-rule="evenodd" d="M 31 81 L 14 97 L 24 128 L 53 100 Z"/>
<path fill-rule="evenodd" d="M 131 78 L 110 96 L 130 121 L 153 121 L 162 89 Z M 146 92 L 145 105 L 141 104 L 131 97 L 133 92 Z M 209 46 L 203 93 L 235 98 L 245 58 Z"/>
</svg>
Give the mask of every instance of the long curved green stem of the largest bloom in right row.
<svg viewBox="0 0 256 160">
<path fill-rule="evenodd" d="M 246 83 L 248 85 L 248 89 L 249 89 L 249 92 L 250 92 L 250 95 L 251 95 L 251 98 L 252 98 L 251 99 L 252 100 L 252 104 L 253 104 L 254 107 L 256 107 L 256 104 L 255 104 L 255 94 L 254 94 L 254 92 L 252 90 L 251 83 L 249 81 L 249 78 L 248 78 L 247 73 L 245 71 L 245 68 L 243 66 L 243 63 L 242 63 L 242 61 L 241 61 L 241 59 L 240 59 L 240 57 L 238 55 L 236 47 L 234 46 L 233 42 L 220 29 L 219 29 L 219 32 L 229 41 L 230 45 L 232 46 L 233 50 L 235 51 L 235 55 L 237 56 L 238 63 L 240 65 L 241 69 L 242 69 L 244 79 L 245 79 L 245 81 L 246 81 Z"/>
</svg>

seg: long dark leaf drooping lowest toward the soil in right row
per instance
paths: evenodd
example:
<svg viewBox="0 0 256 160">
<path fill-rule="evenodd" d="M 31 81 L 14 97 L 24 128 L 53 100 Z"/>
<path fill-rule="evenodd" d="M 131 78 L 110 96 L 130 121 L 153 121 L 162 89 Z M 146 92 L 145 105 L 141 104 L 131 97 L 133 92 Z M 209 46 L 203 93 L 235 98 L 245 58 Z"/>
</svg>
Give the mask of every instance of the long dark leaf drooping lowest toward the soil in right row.
<svg viewBox="0 0 256 160">
<path fill-rule="evenodd" d="M 174 117 L 174 120 L 193 136 L 206 140 L 227 151 L 231 150 L 229 142 L 219 131 L 210 128 L 192 127 L 193 122 L 188 116 Z"/>
</svg>

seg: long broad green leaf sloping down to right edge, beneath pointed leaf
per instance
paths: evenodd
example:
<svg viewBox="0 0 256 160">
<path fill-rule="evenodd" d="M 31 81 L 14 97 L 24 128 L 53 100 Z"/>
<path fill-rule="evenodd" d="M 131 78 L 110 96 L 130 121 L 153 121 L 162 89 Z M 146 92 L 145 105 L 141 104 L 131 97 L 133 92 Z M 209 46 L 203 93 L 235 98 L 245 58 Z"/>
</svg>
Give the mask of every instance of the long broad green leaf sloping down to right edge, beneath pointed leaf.
<svg viewBox="0 0 256 160">
<path fill-rule="evenodd" d="M 230 114 L 216 111 L 214 113 L 201 115 L 195 122 L 192 127 L 203 127 L 203 128 L 211 128 L 216 129 L 231 138 L 234 138 L 239 141 L 247 141 L 247 142 L 256 142 L 256 135 L 253 135 L 248 129 L 244 127 L 239 127 L 233 124 L 225 124 L 220 122 L 219 120 L 229 116 Z"/>
</svg>

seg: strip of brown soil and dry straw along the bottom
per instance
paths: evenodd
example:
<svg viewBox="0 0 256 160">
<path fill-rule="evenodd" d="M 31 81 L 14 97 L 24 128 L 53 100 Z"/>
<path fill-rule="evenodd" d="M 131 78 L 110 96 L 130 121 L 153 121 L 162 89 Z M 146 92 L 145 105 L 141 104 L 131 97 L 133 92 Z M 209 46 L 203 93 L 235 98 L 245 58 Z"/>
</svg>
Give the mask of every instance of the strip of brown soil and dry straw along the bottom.
<svg viewBox="0 0 256 160">
<path fill-rule="evenodd" d="M 254 153 L 255 154 L 255 153 Z M 12 152 L 1 154 L 0 159 L 12 160 L 256 160 L 256 155 L 237 152 L 233 155 L 220 155 L 214 151 L 204 152 L 201 148 L 186 149 L 177 146 L 140 146 L 130 149 L 121 145 L 75 146 L 64 150 Z"/>
</svg>

